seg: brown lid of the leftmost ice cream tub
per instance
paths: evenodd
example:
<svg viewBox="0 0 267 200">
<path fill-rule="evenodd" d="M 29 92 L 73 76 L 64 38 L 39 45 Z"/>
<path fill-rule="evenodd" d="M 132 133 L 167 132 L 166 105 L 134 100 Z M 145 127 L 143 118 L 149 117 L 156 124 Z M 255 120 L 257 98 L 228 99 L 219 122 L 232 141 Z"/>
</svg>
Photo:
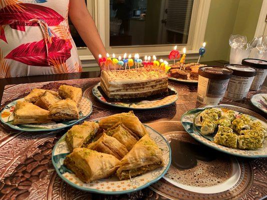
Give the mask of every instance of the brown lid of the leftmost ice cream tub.
<svg viewBox="0 0 267 200">
<path fill-rule="evenodd" d="M 228 79 L 232 76 L 232 73 L 232 69 L 224 66 L 202 66 L 198 70 L 199 75 L 218 80 Z"/>
</svg>

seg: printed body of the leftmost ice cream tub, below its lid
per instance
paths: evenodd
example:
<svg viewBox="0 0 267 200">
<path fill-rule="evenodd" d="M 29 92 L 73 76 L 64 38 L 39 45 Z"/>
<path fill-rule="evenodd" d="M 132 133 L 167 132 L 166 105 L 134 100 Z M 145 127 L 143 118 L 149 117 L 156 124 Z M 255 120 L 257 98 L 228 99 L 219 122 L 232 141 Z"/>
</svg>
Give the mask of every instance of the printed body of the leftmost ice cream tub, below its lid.
<svg viewBox="0 0 267 200">
<path fill-rule="evenodd" d="M 228 79 L 216 80 L 198 76 L 197 100 L 207 105 L 217 105 L 224 96 Z"/>
</svg>

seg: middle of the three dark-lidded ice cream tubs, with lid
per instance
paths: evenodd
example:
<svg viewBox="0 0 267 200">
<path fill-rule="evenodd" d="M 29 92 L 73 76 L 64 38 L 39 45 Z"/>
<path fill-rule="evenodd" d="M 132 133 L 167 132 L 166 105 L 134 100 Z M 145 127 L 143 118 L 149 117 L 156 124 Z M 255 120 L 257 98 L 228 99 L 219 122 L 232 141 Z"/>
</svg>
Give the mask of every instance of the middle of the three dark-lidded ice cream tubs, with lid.
<svg viewBox="0 0 267 200">
<path fill-rule="evenodd" d="M 241 64 L 225 64 L 224 66 L 233 70 L 229 80 L 225 97 L 232 100 L 242 100 L 245 98 L 251 83 L 256 75 L 256 69 Z"/>
</svg>

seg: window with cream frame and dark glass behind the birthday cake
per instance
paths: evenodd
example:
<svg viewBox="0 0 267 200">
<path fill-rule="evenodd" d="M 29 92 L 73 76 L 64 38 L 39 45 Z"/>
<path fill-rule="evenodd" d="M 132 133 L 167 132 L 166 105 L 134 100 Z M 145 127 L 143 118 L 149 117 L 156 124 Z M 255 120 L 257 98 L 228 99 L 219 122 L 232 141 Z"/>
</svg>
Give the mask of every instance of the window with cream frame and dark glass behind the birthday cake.
<svg viewBox="0 0 267 200">
<path fill-rule="evenodd" d="M 128 28 L 127 25 L 121 26 L 123 21 L 118 17 L 118 8 L 113 8 L 114 3 L 126 1 L 130 2 L 130 7 L 122 15 L 130 20 Z M 197 59 L 204 39 L 210 1 L 87 0 L 87 5 L 109 53 L 118 56 L 124 52 L 138 52 L 140 56 L 155 54 L 167 59 L 175 44 L 179 50 L 186 47 L 187 59 Z M 149 20 L 151 23 L 147 22 Z M 153 20 L 156 22 L 152 23 Z M 94 60 L 87 48 L 78 49 L 78 53 L 82 60 Z"/>
</svg>

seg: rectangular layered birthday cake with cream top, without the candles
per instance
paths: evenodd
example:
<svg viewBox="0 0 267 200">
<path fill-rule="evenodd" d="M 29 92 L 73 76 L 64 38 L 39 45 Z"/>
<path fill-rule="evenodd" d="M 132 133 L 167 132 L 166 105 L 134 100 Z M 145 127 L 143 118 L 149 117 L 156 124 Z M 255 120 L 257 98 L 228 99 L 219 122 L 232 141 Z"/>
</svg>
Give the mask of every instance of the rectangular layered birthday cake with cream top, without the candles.
<svg viewBox="0 0 267 200">
<path fill-rule="evenodd" d="M 100 86 L 109 98 L 146 97 L 168 91 L 168 76 L 159 70 L 102 70 Z"/>
</svg>

